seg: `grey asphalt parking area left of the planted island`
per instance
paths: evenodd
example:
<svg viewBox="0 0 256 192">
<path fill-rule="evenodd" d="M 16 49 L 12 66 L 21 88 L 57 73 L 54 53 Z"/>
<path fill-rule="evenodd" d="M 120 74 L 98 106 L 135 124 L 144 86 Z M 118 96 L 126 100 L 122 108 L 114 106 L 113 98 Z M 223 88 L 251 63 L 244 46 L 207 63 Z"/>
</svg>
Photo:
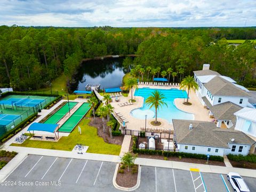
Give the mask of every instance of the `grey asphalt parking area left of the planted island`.
<svg viewBox="0 0 256 192">
<path fill-rule="evenodd" d="M 29 155 L 0 191 L 118 191 L 115 168 L 110 162 Z"/>
</svg>

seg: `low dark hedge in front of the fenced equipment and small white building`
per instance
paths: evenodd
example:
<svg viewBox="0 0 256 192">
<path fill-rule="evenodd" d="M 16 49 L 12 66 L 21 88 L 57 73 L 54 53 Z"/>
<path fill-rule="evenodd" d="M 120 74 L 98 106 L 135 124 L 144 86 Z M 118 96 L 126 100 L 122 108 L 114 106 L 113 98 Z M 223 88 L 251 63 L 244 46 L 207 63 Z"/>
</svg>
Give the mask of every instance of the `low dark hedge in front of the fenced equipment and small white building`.
<svg viewBox="0 0 256 192">
<path fill-rule="evenodd" d="M 147 155 L 163 155 L 165 157 L 183 157 L 183 158 L 197 158 L 197 159 L 207 159 L 206 155 L 203 154 L 192 154 L 192 153 L 183 153 L 183 152 L 174 152 L 174 151 L 163 151 L 163 150 L 150 150 L 150 149 L 138 149 L 136 147 L 137 138 L 133 137 L 133 146 L 132 151 L 135 154 L 147 154 Z M 224 159 L 221 156 L 211 155 L 209 160 L 223 162 Z"/>
</svg>

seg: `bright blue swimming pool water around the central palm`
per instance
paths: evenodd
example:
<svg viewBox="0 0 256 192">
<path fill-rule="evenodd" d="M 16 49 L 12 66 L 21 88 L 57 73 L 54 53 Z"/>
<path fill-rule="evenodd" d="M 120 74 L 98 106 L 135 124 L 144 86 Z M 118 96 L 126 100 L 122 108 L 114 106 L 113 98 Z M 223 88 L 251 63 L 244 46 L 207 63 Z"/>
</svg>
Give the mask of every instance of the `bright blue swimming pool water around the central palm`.
<svg viewBox="0 0 256 192">
<path fill-rule="evenodd" d="M 187 98 L 187 92 L 178 90 L 178 89 L 150 89 L 148 87 L 143 87 L 141 89 L 137 89 L 134 93 L 135 97 L 140 96 L 144 98 L 143 107 L 139 109 L 133 109 L 131 111 L 131 115 L 135 118 L 145 119 L 145 115 L 147 118 L 154 118 L 155 117 L 155 108 L 149 109 L 149 106 L 145 104 L 145 100 L 154 92 L 155 90 L 164 94 L 164 101 L 166 102 L 167 106 L 163 106 L 159 108 L 157 111 L 157 118 L 164 118 L 169 123 L 172 123 L 172 119 L 186 119 L 186 120 L 193 120 L 194 115 L 190 113 L 185 113 L 179 110 L 174 105 L 174 99 L 176 98 Z"/>
</svg>

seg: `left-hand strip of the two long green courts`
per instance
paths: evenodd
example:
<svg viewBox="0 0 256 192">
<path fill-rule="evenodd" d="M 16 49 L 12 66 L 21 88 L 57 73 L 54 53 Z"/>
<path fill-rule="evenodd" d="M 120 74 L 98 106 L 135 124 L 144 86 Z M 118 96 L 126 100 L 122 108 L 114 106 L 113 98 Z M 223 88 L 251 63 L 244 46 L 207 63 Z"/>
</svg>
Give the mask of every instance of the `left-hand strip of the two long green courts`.
<svg viewBox="0 0 256 192">
<path fill-rule="evenodd" d="M 75 107 L 77 102 L 69 102 L 70 110 Z M 56 124 L 68 113 L 68 103 L 63 105 L 58 111 L 56 111 L 51 117 L 47 118 L 44 123 Z"/>
</svg>

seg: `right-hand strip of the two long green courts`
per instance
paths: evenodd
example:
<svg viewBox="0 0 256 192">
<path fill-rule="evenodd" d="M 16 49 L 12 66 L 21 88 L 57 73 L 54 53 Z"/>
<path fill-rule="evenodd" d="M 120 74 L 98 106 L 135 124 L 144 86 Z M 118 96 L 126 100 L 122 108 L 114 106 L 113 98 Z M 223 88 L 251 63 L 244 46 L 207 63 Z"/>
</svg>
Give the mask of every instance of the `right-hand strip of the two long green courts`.
<svg viewBox="0 0 256 192">
<path fill-rule="evenodd" d="M 83 105 L 79 107 L 75 113 L 71 115 L 71 117 L 69 117 L 68 120 L 60 127 L 59 131 L 70 133 L 90 108 L 91 107 L 89 103 L 83 103 Z"/>
</svg>

